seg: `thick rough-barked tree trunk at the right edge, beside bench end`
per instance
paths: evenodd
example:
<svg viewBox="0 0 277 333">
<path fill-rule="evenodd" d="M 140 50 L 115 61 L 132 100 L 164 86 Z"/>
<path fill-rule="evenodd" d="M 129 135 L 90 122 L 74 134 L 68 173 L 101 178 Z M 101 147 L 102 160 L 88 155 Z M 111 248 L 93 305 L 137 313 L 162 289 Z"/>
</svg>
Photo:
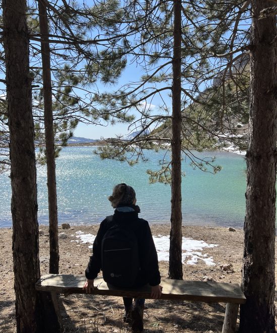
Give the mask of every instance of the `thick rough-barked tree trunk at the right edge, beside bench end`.
<svg viewBox="0 0 277 333">
<path fill-rule="evenodd" d="M 250 137 L 240 332 L 274 332 L 274 241 L 277 119 L 276 20 L 257 20 L 272 3 L 252 2 Z"/>
</svg>

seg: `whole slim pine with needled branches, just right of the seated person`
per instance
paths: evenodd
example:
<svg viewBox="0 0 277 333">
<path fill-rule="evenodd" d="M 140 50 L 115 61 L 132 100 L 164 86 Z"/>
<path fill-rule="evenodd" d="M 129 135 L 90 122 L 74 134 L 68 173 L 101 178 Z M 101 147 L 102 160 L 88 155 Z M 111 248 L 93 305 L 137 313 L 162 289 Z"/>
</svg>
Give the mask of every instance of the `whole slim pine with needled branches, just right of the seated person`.
<svg viewBox="0 0 277 333">
<path fill-rule="evenodd" d="M 145 74 L 140 82 L 125 85 L 119 93 L 104 93 L 100 96 L 100 100 L 104 105 L 103 112 L 112 112 L 112 115 L 121 117 L 122 121 L 130 122 L 130 128 L 136 129 L 138 134 L 130 141 L 122 140 L 120 137 L 107 140 L 111 147 L 102 147 L 99 153 L 103 158 L 127 160 L 132 165 L 140 156 L 144 159 L 143 149 L 159 149 L 165 147 L 164 143 L 170 144 L 170 161 L 164 159 L 160 171 L 148 171 L 148 173 L 151 182 L 161 181 L 171 184 L 169 276 L 173 279 L 182 279 L 181 153 L 189 155 L 194 166 L 201 169 L 205 169 L 207 165 L 210 165 L 215 172 L 220 169 L 211 165 L 209 160 L 205 163 L 196 160 L 193 153 L 187 150 L 192 140 L 185 135 L 188 127 L 182 122 L 181 110 L 186 97 L 194 99 L 184 88 L 184 81 L 188 77 L 185 72 L 191 67 L 186 61 L 191 57 L 192 51 L 182 46 L 186 41 L 196 43 L 197 38 L 193 36 L 194 32 L 186 28 L 189 22 L 186 16 L 182 15 L 184 8 L 177 0 L 163 3 L 146 2 L 137 6 L 135 4 L 131 9 L 127 8 L 132 14 L 130 19 L 133 22 L 127 31 L 133 31 L 134 42 L 127 37 L 122 49 L 128 57 L 132 55 Z M 172 115 L 171 108 L 163 99 L 164 91 L 171 94 Z M 159 113 L 155 114 L 147 105 L 157 95 L 161 96 L 161 104 Z M 130 115 L 133 109 L 140 114 L 138 119 Z M 157 109 L 155 111 L 157 112 Z M 166 123 L 169 124 L 167 128 L 170 128 L 168 135 L 159 136 L 153 131 L 153 126 L 158 127 Z M 198 124 L 199 121 L 194 123 Z M 150 134 L 149 129 L 152 129 Z M 196 135 L 195 141 L 200 145 L 200 136 Z M 128 153 L 132 159 L 128 158 Z"/>
</svg>

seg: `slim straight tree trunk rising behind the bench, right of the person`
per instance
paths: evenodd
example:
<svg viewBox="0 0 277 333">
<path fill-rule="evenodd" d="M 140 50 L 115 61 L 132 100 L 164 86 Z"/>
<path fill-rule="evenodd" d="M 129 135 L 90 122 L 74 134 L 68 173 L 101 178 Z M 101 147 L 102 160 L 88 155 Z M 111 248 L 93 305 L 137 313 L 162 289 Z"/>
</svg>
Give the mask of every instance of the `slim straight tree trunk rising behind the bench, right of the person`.
<svg viewBox="0 0 277 333">
<path fill-rule="evenodd" d="M 172 85 L 172 183 L 171 183 L 171 230 L 169 247 L 169 278 L 183 279 L 182 267 L 182 195 L 181 195 L 181 21 L 182 4 L 174 0 L 174 48 Z"/>
</svg>

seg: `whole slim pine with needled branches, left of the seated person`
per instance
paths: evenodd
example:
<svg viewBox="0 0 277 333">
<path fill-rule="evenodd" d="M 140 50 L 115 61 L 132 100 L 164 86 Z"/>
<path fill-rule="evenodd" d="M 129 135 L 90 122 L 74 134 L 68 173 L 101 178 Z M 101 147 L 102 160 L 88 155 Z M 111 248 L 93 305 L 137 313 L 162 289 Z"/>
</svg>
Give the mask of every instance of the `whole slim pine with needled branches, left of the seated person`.
<svg viewBox="0 0 277 333">
<path fill-rule="evenodd" d="M 79 120 L 99 123 L 93 93 L 89 92 L 86 86 L 93 84 L 98 76 L 105 77 L 104 80 L 114 80 L 119 75 L 124 62 L 122 63 L 118 59 L 114 62 L 114 67 L 119 64 L 118 69 L 107 74 L 107 70 L 105 66 L 101 65 L 101 62 L 108 61 L 109 54 L 105 56 L 104 53 L 101 53 L 99 55 L 96 48 L 96 45 L 101 44 L 101 41 L 99 42 L 101 38 L 87 40 L 88 34 L 92 33 L 96 26 L 98 29 L 99 27 L 110 29 L 111 34 L 110 27 L 114 24 L 110 20 L 117 13 L 117 2 L 111 1 L 109 6 L 102 6 L 102 8 L 99 4 L 94 8 L 83 8 L 74 4 L 71 6 L 65 1 L 63 6 L 60 6 L 43 0 L 37 2 L 38 9 L 35 5 L 36 3 L 33 8 L 29 9 L 32 14 L 29 17 L 30 36 L 36 41 L 40 40 L 41 51 L 38 52 L 37 43 L 31 45 L 33 55 L 31 60 L 32 63 L 36 63 L 36 66 L 32 67 L 34 83 L 36 83 L 34 88 L 40 87 L 40 84 L 43 85 L 42 89 L 35 90 L 34 94 L 35 142 L 37 144 L 45 142 L 45 148 L 40 147 L 37 157 L 41 163 L 46 162 L 47 164 L 49 271 L 58 273 L 55 158 L 60 151 L 60 145 L 66 144 L 66 140 L 72 136 L 72 129 L 77 126 Z M 103 13 L 107 11 L 110 15 L 108 20 L 103 19 Z M 51 17 L 52 24 L 49 31 L 48 16 Z M 68 35 L 71 36 L 69 41 Z M 55 43 L 62 45 L 59 52 L 55 47 L 50 48 L 49 41 L 53 42 L 53 38 L 56 38 Z M 109 36 L 109 38 L 111 37 Z M 105 38 L 102 41 L 105 43 Z M 68 48 L 68 44 L 71 45 L 70 48 Z M 39 63 L 41 63 L 41 67 L 37 66 Z M 79 91 L 81 96 L 76 91 Z M 82 96 L 84 91 L 85 97 Z M 59 135 L 57 136 L 57 134 Z M 7 164 L 4 164 L 3 161 L 2 165 L 6 167 Z"/>
</svg>

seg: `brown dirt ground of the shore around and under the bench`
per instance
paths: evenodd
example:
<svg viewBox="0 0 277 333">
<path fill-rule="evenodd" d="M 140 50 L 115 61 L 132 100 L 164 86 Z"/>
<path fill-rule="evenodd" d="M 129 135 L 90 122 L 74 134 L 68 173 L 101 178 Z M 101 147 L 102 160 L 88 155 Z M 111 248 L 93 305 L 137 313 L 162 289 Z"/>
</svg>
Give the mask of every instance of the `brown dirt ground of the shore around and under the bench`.
<svg viewBox="0 0 277 333">
<path fill-rule="evenodd" d="M 153 235 L 169 235 L 169 225 L 152 225 Z M 98 226 L 72 226 L 61 230 L 67 238 L 59 240 L 60 273 L 84 274 L 91 249 L 90 244 L 73 242 L 76 232 L 96 235 Z M 183 227 L 183 236 L 203 240 L 208 244 L 219 244 L 214 248 L 203 249 L 203 253 L 213 256 L 215 266 L 208 266 L 201 260 L 195 265 L 183 265 L 185 280 L 217 281 L 241 283 L 243 253 L 243 231 L 230 232 L 227 228 Z M 48 228 L 40 226 L 40 269 L 48 273 L 49 241 Z M 15 294 L 13 290 L 12 230 L 0 229 L 0 331 L 15 332 Z M 229 272 L 220 268 L 221 264 L 232 264 Z M 233 271 L 232 271 L 233 270 Z M 167 278 L 168 262 L 160 262 L 162 279 Z M 60 310 L 64 332 L 118 332 L 128 333 L 130 328 L 122 321 L 123 302 L 119 297 L 92 295 L 60 296 Z M 225 304 L 204 304 L 187 301 L 147 300 L 145 311 L 146 333 L 175 332 L 221 332 Z"/>
</svg>

